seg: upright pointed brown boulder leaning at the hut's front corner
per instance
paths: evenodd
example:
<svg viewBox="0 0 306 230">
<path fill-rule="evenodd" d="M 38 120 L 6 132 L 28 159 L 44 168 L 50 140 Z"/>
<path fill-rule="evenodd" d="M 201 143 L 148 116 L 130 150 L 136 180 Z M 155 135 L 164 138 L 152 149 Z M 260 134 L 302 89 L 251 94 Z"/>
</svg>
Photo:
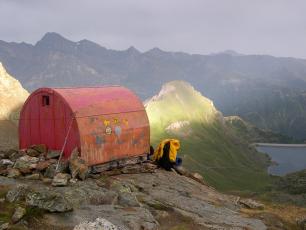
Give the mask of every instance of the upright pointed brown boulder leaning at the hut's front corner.
<svg viewBox="0 0 306 230">
<path fill-rule="evenodd" d="M 88 165 L 82 158 L 79 157 L 79 152 L 77 148 L 75 148 L 71 153 L 69 160 L 69 169 L 73 179 L 78 177 L 81 180 L 85 180 L 88 176 Z"/>
</svg>

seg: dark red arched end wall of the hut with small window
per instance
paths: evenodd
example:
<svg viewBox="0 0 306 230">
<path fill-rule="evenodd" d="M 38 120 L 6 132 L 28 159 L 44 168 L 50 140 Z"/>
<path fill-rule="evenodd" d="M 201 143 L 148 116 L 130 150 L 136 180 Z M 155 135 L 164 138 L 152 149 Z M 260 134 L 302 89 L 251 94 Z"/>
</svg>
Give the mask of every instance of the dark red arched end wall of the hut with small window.
<svg viewBox="0 0 306 230">
<path fill-rule="evenodd" d="M 48 105 L 43 104 L 43 96 L 49 97 Z M 74 122 L 64 149 L 65 157 L 69 157 L 73 148 L 80 147 L 78 128 L 71 108 L 52 89 L 36 90 L 29 96 L 20 114 L 20 148 L 43 143 L 49 149 L 61 150 L 71 119 Z"/>
</svg>

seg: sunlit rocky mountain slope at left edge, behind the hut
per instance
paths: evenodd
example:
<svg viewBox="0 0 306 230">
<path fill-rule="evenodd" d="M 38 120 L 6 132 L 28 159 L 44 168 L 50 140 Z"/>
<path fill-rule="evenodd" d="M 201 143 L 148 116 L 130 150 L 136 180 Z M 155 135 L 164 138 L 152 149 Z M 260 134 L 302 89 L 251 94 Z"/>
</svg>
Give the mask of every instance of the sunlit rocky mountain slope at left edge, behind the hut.
<svg viewBox="0 0 306 230">
<path fill-rule="evenodd" d="M 0 62 L 0 149 L 17 146 L 19 112 L 28 95 Z"/>
</svg>

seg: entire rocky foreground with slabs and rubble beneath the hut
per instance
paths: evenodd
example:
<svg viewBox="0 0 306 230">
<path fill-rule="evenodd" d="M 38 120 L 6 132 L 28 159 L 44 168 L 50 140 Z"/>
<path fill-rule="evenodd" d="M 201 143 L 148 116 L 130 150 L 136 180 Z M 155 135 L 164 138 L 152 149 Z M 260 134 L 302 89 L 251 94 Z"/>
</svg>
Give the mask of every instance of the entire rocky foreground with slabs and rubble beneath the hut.
<svg viewBox="0 0 306 230">
<path fill-rule="evenodd" d="M 58 155 L 43 146 L 0 155 L 0 229 L 284 227 L 256 213 L 262 204 L 221 194 L 197 174 L 183 176 L 150 162 L 91 174 L 77 156 L 56 171 Z"/>
</svg>

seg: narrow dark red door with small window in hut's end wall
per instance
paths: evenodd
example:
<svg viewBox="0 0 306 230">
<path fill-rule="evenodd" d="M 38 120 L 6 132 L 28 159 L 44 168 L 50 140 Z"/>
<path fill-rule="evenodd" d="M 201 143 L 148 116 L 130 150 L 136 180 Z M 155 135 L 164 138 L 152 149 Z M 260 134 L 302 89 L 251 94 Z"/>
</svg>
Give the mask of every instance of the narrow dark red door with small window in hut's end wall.
<svg viewBox="0 0 306 230">
<path fill-rule="evenodd" d="M 53 94 L 41 93 L 39 106 L 39 128 L 41 143 L 48 147 L 54 146 L 54 106 Z"/>
</svg>

